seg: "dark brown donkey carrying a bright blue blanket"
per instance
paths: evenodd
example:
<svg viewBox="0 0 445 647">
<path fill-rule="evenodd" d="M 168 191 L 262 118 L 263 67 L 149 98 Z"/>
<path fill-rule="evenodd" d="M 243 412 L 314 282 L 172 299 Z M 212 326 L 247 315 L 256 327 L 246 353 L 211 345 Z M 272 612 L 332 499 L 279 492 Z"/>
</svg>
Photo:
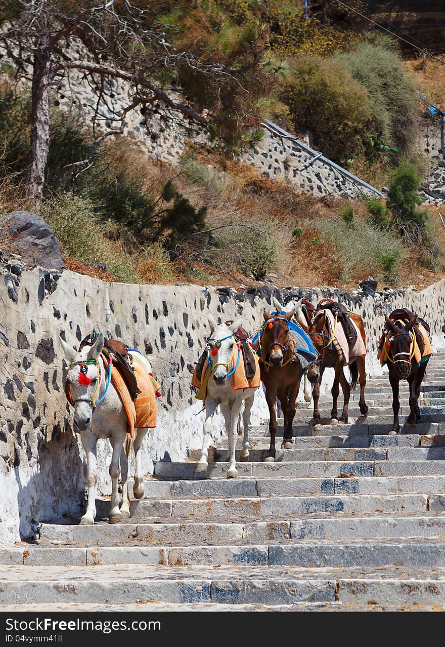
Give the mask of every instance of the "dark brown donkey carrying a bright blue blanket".
<svg viewBox="0 0 445 647">
<path fill-rule="evenodd" d="M 264 311 L 264 324 L 260 331 L 261 379 L 265 386 L 265 399 L 269 406 L 269 432 L 271 446 L 265 455 L 265 461 L 275 460 L 275 436 L 278 430 L 276 421 L 276 398 L 280 400 L 284 415 L 282 449 L 290 449 L 292 443 L 292 422 L 295 417 L 295 400 L 300 390 L 303 369 L 292 335 L 289 333 L 289 321 L 295 310 L 280 315 L 271 315 Z"/>
</svg>

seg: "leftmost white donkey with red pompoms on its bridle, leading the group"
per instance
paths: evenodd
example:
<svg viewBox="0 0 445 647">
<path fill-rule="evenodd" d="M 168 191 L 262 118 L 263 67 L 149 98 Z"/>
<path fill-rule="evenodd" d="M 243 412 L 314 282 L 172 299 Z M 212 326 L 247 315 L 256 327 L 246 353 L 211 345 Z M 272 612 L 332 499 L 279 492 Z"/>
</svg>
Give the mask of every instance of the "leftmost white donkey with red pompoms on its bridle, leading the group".
<svg viewBox="0 0 445 647">
<path fill-rule="evenodd" d="M 105 371 L 103 360 L 100 356 L 103 349 L 103 334 L 99 334 L 92 346 L 86 346 L 81 351 L 75 351 L 63 339 L 60 339 L 65 357 L 68 362 L 67 380 L 70 387 L 72 403 L 74 405 L 74 424 L 77 427 L 85 454 L 87 454 L 87 487 L 88 503 L 87 512 L 80 520 L 81 525 L 94 523 L 96 517 L 96 494 L 98 486 L 98 467 L 96 459 L 99 438 L 108 438 L 113 448 L 110 477 L 112 483 L 111 509 L 109 523 L 118 523 L 127 520 L 130 516 L 130 499 L 128 488 L 129 463 L 128 452 L 130 443 L 127 443 L 127 452 L 123 444 L 127 440 L 127 413 L 119 399 L 114 384 L 110 382 L 107 394 L 99 402 L 106 391 L 108 370 Z M 85 370 L 86 369 L 86 370 Z M 79 384 L 84 373 L 90 384 Z M 96 407 L 94 406 L 96 404 Z M 133 494 L 136 499 L 141 499 L 144 493 L 143 474 L 141 465 L 141 444 L 147 429 L 134 430 L 133 448 L 136 459 L 134 473 Z M 119 465 L 122 481 L 122 505 L 119 509 L 118 478 Z"/>
</svg>

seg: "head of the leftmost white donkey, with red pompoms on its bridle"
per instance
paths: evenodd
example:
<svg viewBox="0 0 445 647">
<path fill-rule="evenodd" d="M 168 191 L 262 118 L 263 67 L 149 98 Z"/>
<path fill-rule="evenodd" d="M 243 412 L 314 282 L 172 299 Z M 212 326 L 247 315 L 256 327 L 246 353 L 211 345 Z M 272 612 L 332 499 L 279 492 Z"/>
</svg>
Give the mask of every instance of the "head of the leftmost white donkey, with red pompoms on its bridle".
<svg viewBox="0 0 445 647">
<path fill-rule="evenodd" d="M 91 426 L 94 403 L 99 397 L 103 334 L 99 334 L 92 346 L 85 346 L 81 351 L 75 351 L 63 339 L 60 343 L 68 362 L 67 382 L 74 406 L 74 422 L 79 432 L 85 432 Z"/>
</svg>

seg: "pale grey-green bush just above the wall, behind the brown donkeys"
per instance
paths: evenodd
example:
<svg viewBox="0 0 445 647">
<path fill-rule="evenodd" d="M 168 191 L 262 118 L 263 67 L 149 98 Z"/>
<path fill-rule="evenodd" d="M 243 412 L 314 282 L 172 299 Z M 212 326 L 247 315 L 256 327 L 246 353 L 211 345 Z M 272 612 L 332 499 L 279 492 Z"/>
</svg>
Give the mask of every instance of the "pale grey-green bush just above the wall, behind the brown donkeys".
<svg viewBox="0 0 445 647">
<path fill-rule="evenodd" d="M 404 258 L 403 243 L 397 234 L 382 234 L 366 221 L 356 221 L 351 232 L 342 219 L 322 220 L 318 230 L 331 244 L 343 281 L 371 275 L 382 281 L 397 282 L 400 261 Z"/>
</svg>

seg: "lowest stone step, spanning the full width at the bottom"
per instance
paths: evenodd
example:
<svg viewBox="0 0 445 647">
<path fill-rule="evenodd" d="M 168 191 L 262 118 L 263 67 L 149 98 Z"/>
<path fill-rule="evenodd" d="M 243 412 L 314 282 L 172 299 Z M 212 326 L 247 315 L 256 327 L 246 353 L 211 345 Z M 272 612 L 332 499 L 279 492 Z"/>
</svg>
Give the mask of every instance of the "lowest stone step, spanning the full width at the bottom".
<svg viewBox="0 0 445 647">
<path fill-rule="evenodd" d="M 9 566 L 0 569 L 0 604 L 123 604 L 129 598 L 173 604 L 439 604 L 445 596 L 442 567 L 295 567 L 140 565 L 87 567 Z"/>
</svg>

